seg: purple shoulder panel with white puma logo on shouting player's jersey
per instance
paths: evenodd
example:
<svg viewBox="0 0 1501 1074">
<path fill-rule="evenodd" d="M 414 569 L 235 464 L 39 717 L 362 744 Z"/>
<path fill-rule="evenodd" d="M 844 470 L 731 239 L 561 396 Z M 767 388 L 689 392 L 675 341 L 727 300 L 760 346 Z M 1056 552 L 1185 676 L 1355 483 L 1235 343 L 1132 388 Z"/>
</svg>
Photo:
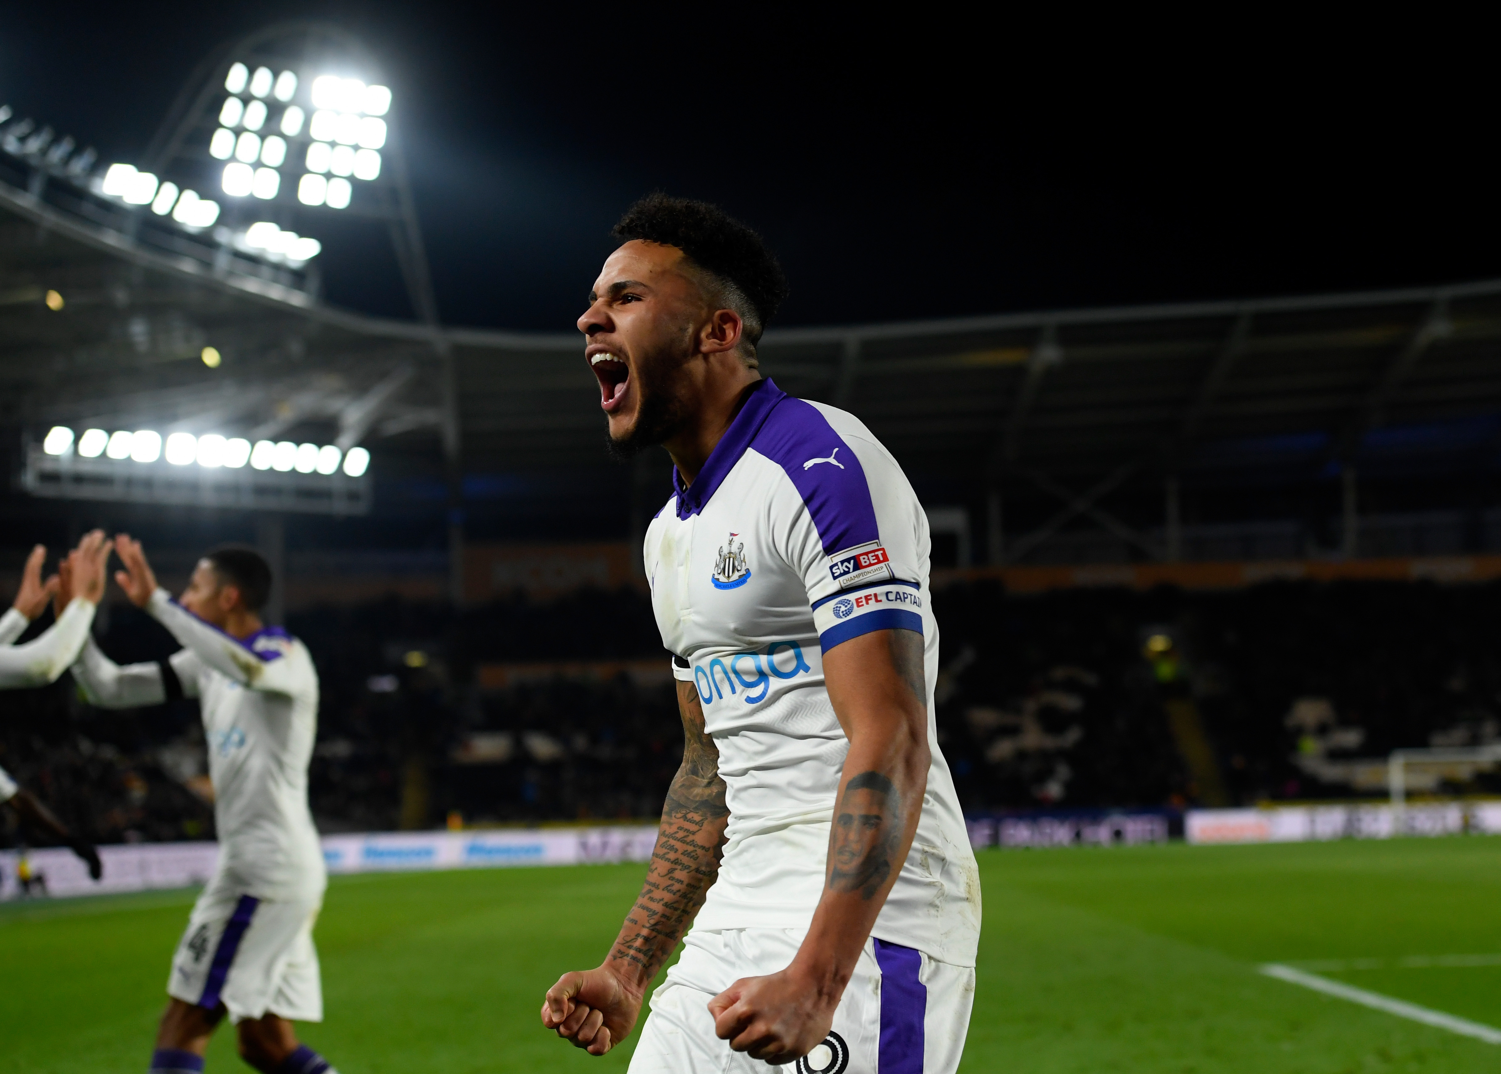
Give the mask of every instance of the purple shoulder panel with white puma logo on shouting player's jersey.
<svg viewBox="0 0 1501 1074">
<path fill-rule="evenodd" d="M 881 540 L 860 459 L 817 406 L 782 396 L 750 447 L 797 489 L 826 555 Z"/>
</svg>

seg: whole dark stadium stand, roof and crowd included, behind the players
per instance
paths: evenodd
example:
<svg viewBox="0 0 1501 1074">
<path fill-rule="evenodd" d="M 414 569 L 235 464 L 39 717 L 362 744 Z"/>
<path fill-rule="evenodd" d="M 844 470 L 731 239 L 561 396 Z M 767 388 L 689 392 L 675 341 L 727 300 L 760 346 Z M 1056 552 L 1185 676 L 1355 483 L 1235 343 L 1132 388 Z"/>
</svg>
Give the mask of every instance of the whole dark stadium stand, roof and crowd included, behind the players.
<svg viewBox="0 0 1501 1074">
<path fill-rule="evenodd" d="M 0 580 L 92 525 L 171 585 L 257 543 L 323 676 L 326 831 L 653 814 L 680 735 L 635 573 L 668 466 L 608 462 L 576 338 L 338 309 L 315 273 L 99 196 L 105 162 L 0 148 Z M 865 420 L 928 506 L 967 808 L 1156 807 L 1379 794 L 1390 748 L 1498 736 L 1498 340 L 1481 280 L 773 328 L 760 358 Z M 372 460 L 227 477 L 48 454 L 54 426 Z M 117 658 L 168 646 L 117 604 L 98 630 Z M 198 837 L 195 728 L 65 681 L 8 696 L 0 764 L 99 842 Z"/>
</svg>

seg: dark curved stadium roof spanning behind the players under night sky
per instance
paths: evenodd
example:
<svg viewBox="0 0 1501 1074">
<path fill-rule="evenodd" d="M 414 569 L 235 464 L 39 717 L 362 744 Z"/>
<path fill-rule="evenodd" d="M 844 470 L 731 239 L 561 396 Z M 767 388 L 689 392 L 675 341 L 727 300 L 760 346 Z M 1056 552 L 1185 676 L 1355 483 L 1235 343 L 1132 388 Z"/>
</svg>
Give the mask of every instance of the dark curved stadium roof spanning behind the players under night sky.
<svg viewBox="0 0 1501 1074">
<path fill-rule="evenodd" d="M 105 420 L 303 426 L 378 441 L 389 472 L 441 471 L 447 436 L 465 474 L 620 480 L 603 476 L 576 333 L 351 314 L 273 273 L 153 244 L 81 201 L 0 182 L 0 423 L 29 442 Z M 44 303 L 50 290 L 63 309 Z M 204 368 L 204 345 L 222 368 Z M 773 328 L 761 345 L 782 388 L 856 412 L 914 477 L 1025 490 L 1130 531 L 1144 555 L 1100 508 L 1130 482 L 1493 456 L 1498 358 L 1501 280 Z"/>
</svg>

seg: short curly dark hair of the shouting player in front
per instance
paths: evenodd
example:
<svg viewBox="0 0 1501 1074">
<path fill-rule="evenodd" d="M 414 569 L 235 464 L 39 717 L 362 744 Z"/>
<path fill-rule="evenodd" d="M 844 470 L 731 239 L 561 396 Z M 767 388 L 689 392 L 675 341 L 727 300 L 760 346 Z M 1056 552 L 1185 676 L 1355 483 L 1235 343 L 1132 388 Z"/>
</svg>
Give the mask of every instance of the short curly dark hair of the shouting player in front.
<svg viewBox="0 0 1501 1074">
<path fill-rule="evenodd" d="M 719 206 L 656 190 L 626 210 L 617 238 L 675 246 L 713 278 L 717 300 L 744 321 L 749 363 L 767 322 L 787 298 L 787 274 L 752 228 Z"/>
</svg>

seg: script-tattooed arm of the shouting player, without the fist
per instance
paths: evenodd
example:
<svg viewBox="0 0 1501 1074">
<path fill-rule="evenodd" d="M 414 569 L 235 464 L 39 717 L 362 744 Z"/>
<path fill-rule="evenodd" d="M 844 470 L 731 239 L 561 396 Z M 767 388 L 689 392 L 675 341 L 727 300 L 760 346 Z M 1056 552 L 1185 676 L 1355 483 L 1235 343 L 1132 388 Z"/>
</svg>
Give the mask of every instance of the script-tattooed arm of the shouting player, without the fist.
<svg viewBox="0 0 1501 1074">
<path fill-rule="evenodd" d="M 620 930 L 611 962 L 632 963 L 650 981 L 693 922 L 719 874 L 729 807 L 719 777 L 719 748 L 704 730 L 704 708 L 692 682 L 677 684 L 683 717 L 683 764 L 662 806 L 647 879 Z"/>
</svg>

